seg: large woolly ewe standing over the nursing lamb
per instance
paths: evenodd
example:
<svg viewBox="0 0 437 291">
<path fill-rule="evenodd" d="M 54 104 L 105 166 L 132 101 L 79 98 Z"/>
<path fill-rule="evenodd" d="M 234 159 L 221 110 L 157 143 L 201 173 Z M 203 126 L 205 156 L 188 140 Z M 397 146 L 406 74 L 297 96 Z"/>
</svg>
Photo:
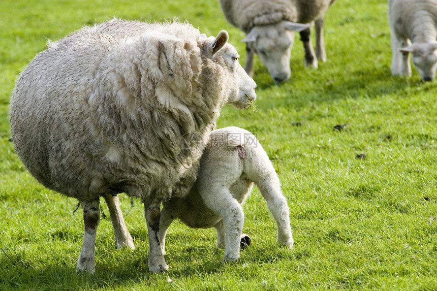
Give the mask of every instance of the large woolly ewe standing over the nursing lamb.
<svg viewBox="0 0 437 291">
<path fill-rule="evenodd" d="M 134 248 L 119 231 L 121 192 L 144 203 L 149 270 L 168 268 L 161 201 L 191 188 L 224 104 L 245 108 L 256 98 L 227 40 L 226 31 L 206 38 L 188 23 L 114 19 L 50 44 L 20 75 L 10 105 L 15 149 L 43 185 L 82 205 L 78 270 L 95 270 L 100 196 L 116 246 Z"/>
</svg>

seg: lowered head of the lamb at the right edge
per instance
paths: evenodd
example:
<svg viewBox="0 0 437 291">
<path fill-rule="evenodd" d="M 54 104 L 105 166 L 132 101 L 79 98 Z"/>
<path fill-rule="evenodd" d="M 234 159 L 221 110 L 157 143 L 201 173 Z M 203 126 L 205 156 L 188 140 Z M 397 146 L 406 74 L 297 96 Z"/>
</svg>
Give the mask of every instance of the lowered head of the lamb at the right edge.
<svg viewBox="0 0 437 291">
<path fill-rule="evenodd" d="M 423 81 L 435 78 L 437 70 L 437 42 L 415 43 L 399 49 L 402 53 L 412 53 L 413 63 Z"/>
</svg>

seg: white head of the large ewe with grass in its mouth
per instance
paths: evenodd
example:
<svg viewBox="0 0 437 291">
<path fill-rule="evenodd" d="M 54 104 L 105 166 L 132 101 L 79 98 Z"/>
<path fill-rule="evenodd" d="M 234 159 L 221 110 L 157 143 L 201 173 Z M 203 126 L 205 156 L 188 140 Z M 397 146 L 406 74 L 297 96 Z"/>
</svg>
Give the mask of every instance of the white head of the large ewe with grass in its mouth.
<svg viewBox="0 0 437 291">
<path fill-rule="evenodd" d="M 208 38 L 206 41 L 207 56 L 209 58 L 220 61 L 223 64 L 224 70 L 227 71 L 227 84 L 229 88 L 228 104 L 231 104 L 237 109 L 245 109 L 251 107 L 257 94 L 255 88 L 257 84 L 247 75 L 244 69 L 238 62 L 239 55 L 237 50 L 228 41 L 228 33 L 225 30 L 220 31 L 219 35 L 214 38 Z"/>
</svg>

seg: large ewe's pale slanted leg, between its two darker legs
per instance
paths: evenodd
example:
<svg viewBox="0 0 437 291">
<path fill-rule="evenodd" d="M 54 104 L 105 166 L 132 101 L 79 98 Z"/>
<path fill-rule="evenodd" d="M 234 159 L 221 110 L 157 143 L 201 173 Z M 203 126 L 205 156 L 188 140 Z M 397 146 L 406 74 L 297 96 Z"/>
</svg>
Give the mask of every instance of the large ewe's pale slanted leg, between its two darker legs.
<svg viewBox="0 0 437 291">
<path fill-rule="evenodd" d="M 109 216 L 111 217 L 112 227 L 114 229 L 116 248 L 127 246 L 131 249 L 135 249 L 134 240 L 124 222 L 118 197 L 112 195 L 104 195 L 103 197 L 108 205 Z"/>
</svg>

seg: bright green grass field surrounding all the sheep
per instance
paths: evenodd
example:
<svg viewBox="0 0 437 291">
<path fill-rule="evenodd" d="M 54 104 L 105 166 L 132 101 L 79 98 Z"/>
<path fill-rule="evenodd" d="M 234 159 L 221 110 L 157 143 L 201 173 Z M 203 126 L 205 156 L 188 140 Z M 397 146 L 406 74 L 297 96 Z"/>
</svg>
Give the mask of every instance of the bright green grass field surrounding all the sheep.
<svg viewBox="0 0 437 291">
<path fill-rule="evenodd" d="M 226 107 L 217 124 L 246 128 L 263 144 L 289 202 L 294 250 L 275 244 L 275 223 L 255 189 L 243 229 L 253 245 L 238 263 L 222 262 L 213 230 L 174 222 L 165 274 L 148 272 L 143 207 L 135 200 L 131 209 L 125 195 L 137 249 L 115 249 L 111 223 L 101 219 L 96 274 L 76 274 L 82 211 L 20 163 L 9 141 L 9 98 L 47 40 L 85 24 L 178 17 L 207 35 L 226 29 L 242 64 L 243 33 L 218 0 L 3 0 L 0 15 L 0 290 L 437 289 L 437 81 L 422 83 L 415 69 L 411 78 L 391 77 L 386 0 L 337 0 L 326 14 L 328 61 L 318 70 L 304 69 L 298 36 L 289 82 L 274 85 L 256 57 L 256 112 Z"/>
</svg>

